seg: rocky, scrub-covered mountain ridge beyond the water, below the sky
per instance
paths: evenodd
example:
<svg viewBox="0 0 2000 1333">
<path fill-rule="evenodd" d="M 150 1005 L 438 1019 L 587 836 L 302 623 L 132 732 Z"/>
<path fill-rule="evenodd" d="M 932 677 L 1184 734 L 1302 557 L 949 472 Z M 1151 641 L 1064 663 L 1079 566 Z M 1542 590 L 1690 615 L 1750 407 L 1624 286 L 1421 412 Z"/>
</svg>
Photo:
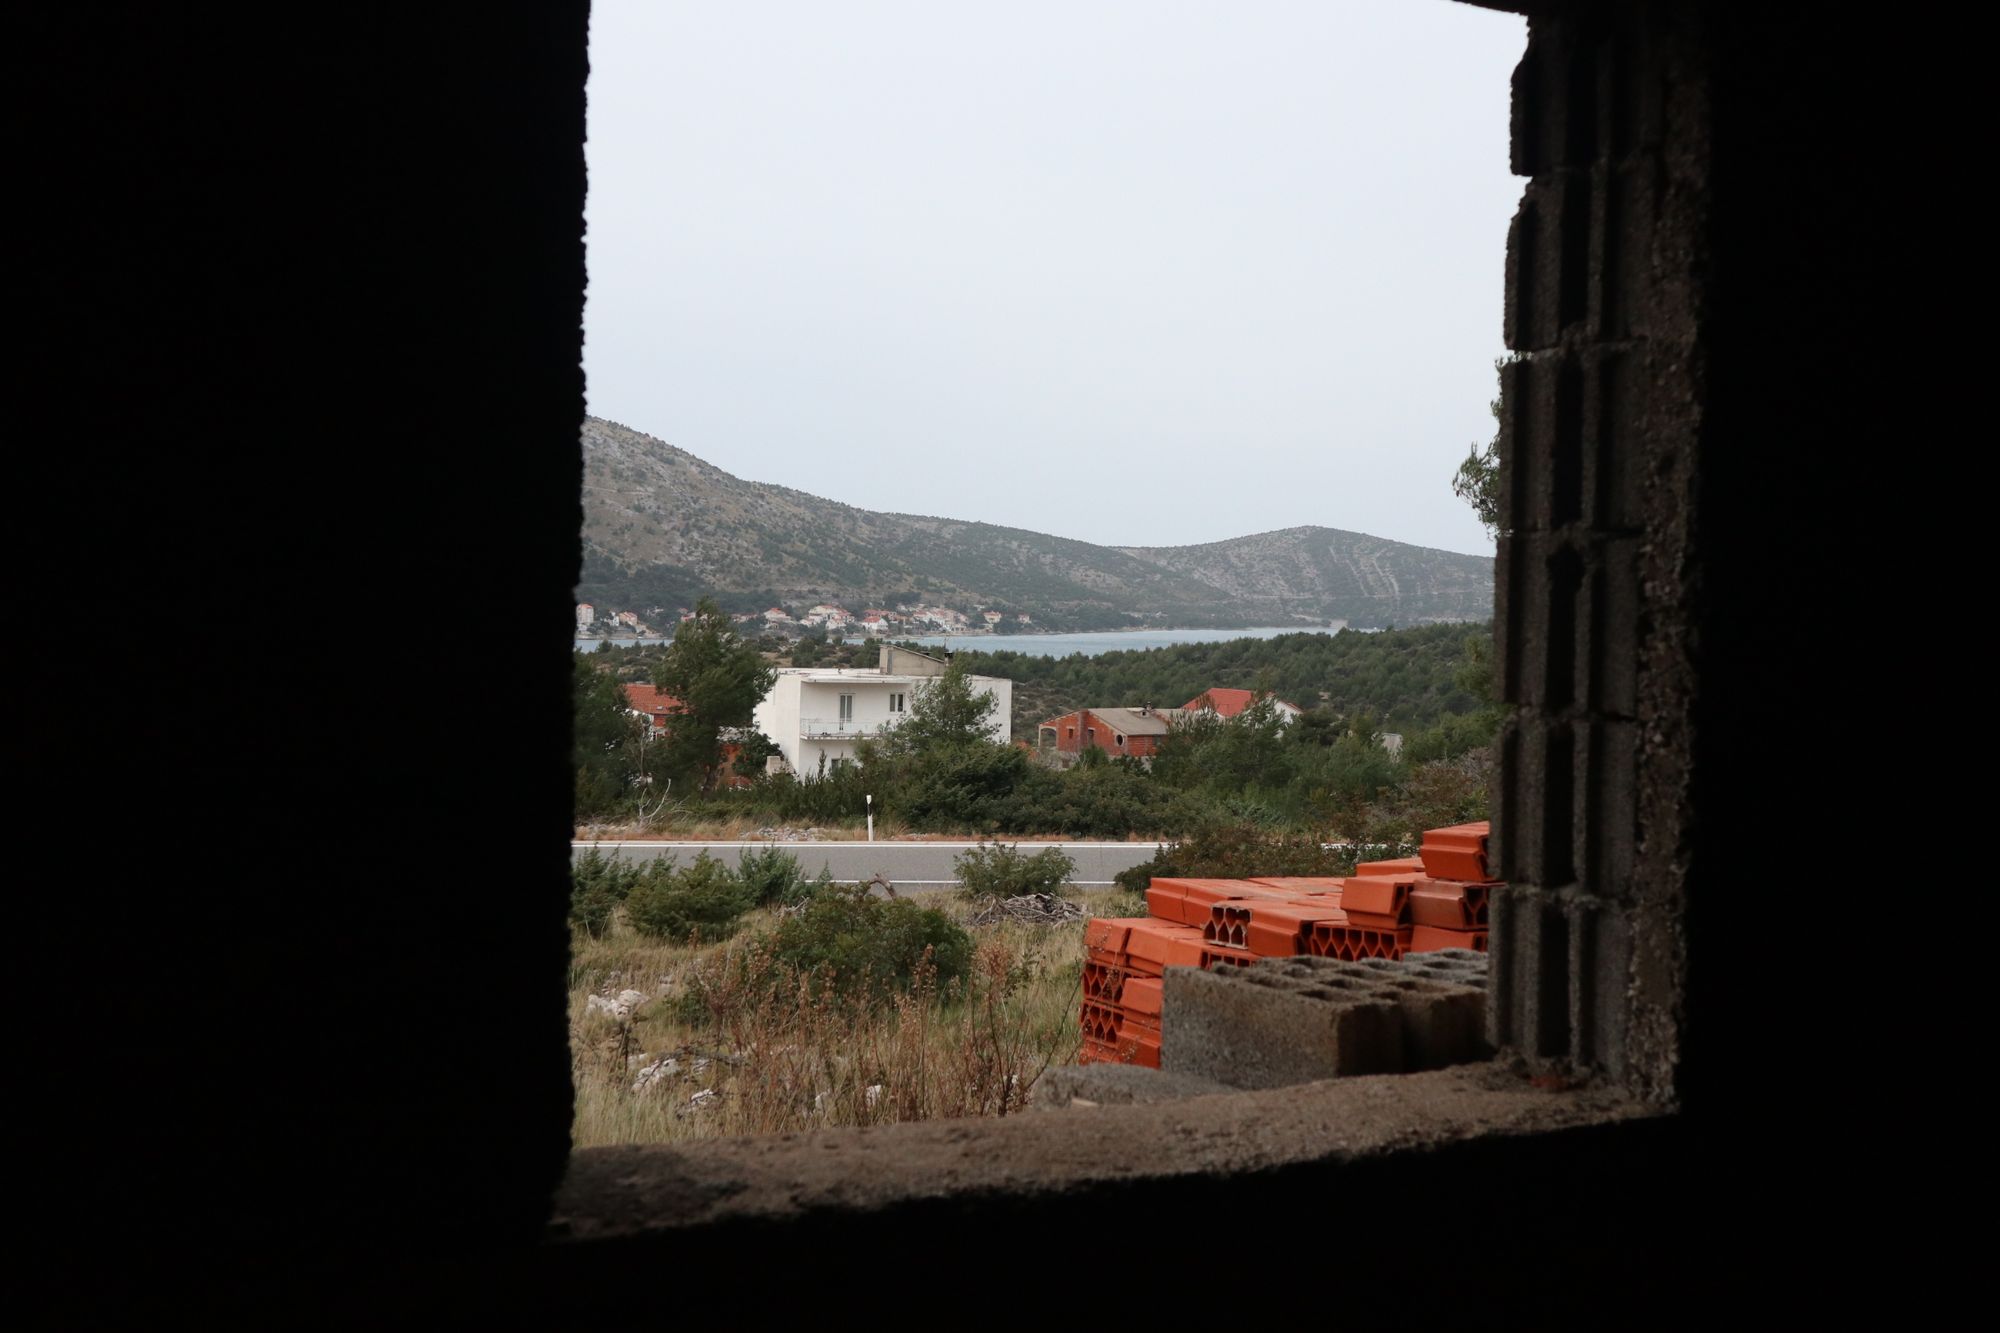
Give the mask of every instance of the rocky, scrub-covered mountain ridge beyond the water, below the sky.
<svg viewBox="0 0 2000 1333">
<path fill-rule="evenodd" d="M 940 602 L 1040 628 L 1356 626 L 1492 616 L 1494 562 L 1336 528 L 1202 546 L 1094 546 L 990 522 L 884 514 L 730 476 L 616 422 L 584 420 L 582 600 L 732 610 Z"/>
</svg>

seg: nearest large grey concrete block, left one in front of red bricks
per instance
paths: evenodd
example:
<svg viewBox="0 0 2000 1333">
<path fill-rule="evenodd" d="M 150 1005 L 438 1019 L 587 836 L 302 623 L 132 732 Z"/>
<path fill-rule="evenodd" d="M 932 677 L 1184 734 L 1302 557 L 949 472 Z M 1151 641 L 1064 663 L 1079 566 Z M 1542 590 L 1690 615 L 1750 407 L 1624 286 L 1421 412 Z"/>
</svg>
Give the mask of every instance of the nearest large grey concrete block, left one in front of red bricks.
<svg viewBox="0 0 2000 1333">
<path fill-rule="evenodd" d="M 1168 969 L 1160 1067 L 1244 1089 L 1402 1069 L 1404 1025 L 1392 987 L 1370 977 L 1278 971 L 1296 965 Z"/>
</svg>

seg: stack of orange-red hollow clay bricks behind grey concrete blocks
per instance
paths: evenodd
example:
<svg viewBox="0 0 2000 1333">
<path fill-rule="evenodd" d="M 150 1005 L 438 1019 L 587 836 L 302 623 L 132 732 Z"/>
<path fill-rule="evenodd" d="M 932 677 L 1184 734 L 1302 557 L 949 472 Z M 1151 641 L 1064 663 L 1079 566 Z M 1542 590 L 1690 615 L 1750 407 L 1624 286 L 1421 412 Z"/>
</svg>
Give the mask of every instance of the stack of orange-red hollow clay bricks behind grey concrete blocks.
<svg viewBox="0 0 2000 1333">
<path fill-rule="evenodd" d="M 1160 1067 L 1160 977 L 1296 955 L 1400 959 L 1486 951 L 1488 825 L 1430 829 L 1416 857 L 1364 861 L 1344 879 L 1154 879 L 1146 917 L 1084 929 L 1078 1063 Z"/>
</svg>

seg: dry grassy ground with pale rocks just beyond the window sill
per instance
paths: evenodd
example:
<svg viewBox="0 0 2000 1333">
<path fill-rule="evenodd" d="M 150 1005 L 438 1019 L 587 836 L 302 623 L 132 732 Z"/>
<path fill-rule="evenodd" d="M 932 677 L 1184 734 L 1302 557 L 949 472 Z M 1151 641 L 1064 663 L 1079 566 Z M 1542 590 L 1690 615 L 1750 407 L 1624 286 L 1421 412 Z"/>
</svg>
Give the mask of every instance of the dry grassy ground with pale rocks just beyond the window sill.
<svg viewBox="0 0 2000 1333">
<path fill-rule="evenodd" d="M 1144 913 L 1116 891 L 1072 893 L 1090 915 Z M 956 895 L 922 903 L 960 919 L 974 911 Z M 650 941 L 622 923 L 604 939 L 576 937 L 576 1147 L 1014 1115 L 1044 1069 L 1076 1059 L 1082 921 L 974 927 L 962 987 L 920 981 L 876 1009 L 724 967 L 774 921 L 752 913 L 738 937 L 708 947 Z"/>
</svg>

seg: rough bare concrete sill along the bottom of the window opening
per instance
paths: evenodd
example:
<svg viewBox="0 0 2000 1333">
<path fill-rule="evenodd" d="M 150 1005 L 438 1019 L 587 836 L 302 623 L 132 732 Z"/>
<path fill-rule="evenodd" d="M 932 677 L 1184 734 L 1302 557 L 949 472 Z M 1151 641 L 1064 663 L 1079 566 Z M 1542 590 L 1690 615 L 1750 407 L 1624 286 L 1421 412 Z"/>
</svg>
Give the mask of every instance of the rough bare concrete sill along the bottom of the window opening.
<svg viewBox="0 0 2000 1333">
<path fill-rule="evenodd" d="M 570 1159 L 550 1239 L 570 1247 L 734 1223 L 810 1227 L 936 1203 L 1076 1203 L 1096 1189 L 1318 1177 L 1436 1157 L 1468 1141 L 1670 1119 L 1616 1089 L 1548 1091 L 1500 1065 L 1464 1065 L 1156 1105 L 582 1149 Z"/>
</svg>

